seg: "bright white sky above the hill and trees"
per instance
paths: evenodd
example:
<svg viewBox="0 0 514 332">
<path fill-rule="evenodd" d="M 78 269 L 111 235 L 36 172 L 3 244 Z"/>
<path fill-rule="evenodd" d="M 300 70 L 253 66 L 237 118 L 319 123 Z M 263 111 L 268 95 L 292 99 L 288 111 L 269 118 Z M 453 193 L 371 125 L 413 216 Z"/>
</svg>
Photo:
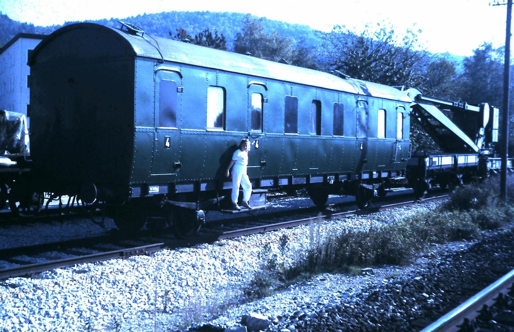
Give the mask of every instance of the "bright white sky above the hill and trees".
<svg viewBox="0 0 514 332">
<path fill-rule="evenodd" d="M 420 42 L 432 52 L 470 56 L 484 42 L 505 45 L 506 0 L 0 0 L 0 11 L 11 19 L 48 26 L 65 21 L 122 19 L 163 11 L 250 13 L 313 29 L 330 31 L 344 25 L 357 32 L 365 24 L 386 22 L 397 31 L 421 29 Z"/>
</svg>

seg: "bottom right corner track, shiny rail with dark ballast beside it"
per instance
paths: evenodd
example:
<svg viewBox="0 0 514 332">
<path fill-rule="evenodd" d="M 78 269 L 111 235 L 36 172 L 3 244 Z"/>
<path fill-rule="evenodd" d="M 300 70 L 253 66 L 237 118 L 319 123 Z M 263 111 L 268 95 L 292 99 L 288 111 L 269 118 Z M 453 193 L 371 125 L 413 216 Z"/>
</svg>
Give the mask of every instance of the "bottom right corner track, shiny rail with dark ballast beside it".
<svg viewBox="0 0 514 332">
<path fill-rule="evenodd" d="M 480 325 L 474 320 L 481 318 L 503 326 L 495 326 L 494 330 L 514 330 L 514 303 L 506 297 L 510 293 L 511 298 L 513 285 L 514 270 L 511 270 L 421 332 L 474 331 Z"/>
</svg>

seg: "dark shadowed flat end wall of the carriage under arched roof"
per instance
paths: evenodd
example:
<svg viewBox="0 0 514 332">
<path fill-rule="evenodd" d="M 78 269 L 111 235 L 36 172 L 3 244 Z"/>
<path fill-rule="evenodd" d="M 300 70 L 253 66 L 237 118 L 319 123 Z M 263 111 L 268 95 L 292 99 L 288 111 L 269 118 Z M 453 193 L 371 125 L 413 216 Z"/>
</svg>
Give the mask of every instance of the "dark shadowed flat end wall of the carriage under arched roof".
<svg viewBox="0 0 514 332">
<path fill-rule="evenodd" d="M 130 178 L 134 52 L 101 30 L 53 33 L 31 57 L 31 153 L 50 183 L 112 188 Z"/>
</svg>

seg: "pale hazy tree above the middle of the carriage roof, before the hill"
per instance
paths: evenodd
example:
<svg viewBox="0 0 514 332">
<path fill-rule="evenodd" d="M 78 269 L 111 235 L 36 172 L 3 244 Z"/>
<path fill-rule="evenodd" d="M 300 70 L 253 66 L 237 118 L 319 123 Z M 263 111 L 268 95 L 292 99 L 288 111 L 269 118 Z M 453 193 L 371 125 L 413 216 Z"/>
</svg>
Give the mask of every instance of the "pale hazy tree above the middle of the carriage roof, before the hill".
<svg viewBox="0 0 514 332">
<path fill-rule="evenodd" d="M 237 33 L 234 52 L 241 54 L 250 52 L 257 58 L 288 62 L 291 59 L 292 41 L 277 31 L 265 32 L 264 19 L 256 19 L 248 14 L 243 20 L 243 32 Z"/>
</svg>

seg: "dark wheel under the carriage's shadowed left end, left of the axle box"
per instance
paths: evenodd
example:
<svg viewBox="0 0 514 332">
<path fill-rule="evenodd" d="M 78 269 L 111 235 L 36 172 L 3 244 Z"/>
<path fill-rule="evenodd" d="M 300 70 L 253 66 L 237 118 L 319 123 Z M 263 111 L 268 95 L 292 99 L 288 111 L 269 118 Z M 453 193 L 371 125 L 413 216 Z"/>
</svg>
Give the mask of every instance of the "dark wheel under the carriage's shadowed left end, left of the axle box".
<svg viewBox="0 0 514 332">
<path fill-rule="evenodd" d="M 109 210 L 114 224 L 123 233 L 135 233 L 146 223 L 146 209 L 142 204 L 127 202 L 121 207 L 111 207 Z"/>
</svg>

